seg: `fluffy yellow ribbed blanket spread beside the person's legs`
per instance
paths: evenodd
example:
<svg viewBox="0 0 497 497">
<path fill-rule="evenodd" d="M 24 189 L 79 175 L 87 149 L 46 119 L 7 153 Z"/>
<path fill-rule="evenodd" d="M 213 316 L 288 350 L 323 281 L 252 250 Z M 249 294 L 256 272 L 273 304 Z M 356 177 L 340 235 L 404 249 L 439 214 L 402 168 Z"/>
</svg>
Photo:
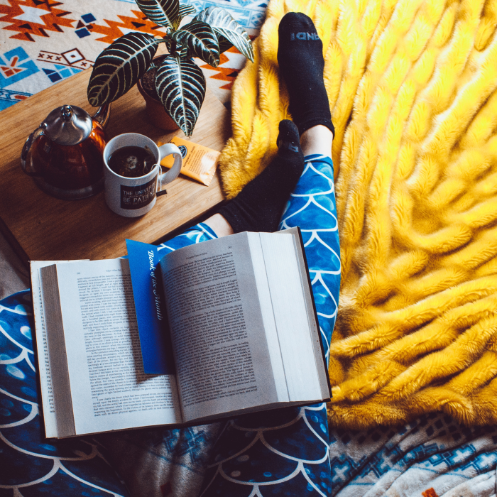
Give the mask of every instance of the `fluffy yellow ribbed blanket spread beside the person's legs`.
<svg viewBox="0 0 497 497">
<path fill-rule="evenodd" d="M 233 89 L 232 197 L 276 150 L 278 23 L 315 22 L 337 130 L 342 290 L 329 420 L 497 422 L 496 0 L 271 0 Z"/>
</svg>

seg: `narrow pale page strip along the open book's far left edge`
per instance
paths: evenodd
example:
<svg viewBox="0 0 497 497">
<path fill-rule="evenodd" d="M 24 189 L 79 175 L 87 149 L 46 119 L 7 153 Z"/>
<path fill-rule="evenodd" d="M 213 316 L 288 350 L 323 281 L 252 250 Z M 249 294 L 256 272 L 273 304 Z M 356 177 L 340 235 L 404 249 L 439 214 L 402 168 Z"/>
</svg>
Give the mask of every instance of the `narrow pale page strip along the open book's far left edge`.
<svg viewBox="0 0 497 497">
<path fill-rule="evenodd" d="M 50 376 L 50 359 L 48 356 L 42 288 L 40 285 L 40 268 L 63 262 L 68 261 L 30 261 L 31 295 L 33 298 L 33 316 L 35 320 L 35 337 L 38 353 L 38 373 L 40 375 L 43 422 L 45 424 L 45 436 L 47 438 L 57 437 L 57 422 L 55 420 L 55 404 L 53 400 L 52 378 Z"/>
</svg>

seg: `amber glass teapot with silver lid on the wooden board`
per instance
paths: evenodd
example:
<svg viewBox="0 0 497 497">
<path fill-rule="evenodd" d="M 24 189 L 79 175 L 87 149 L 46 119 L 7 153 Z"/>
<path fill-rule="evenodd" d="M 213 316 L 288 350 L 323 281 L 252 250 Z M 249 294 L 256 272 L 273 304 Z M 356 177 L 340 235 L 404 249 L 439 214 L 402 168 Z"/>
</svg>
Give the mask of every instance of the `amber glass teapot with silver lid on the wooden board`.
<svg viewBox="0 0 497 497">
<path fill-rule="evenodd" d="M 75 105 L 48 114 L 24 143 L 21 167 L 44 192 L 73 200 L 89 197 L 104 187 L 102 153 L 107 143 L 104 126 L 110 105 L 93 117 Z"/>
</svg>

